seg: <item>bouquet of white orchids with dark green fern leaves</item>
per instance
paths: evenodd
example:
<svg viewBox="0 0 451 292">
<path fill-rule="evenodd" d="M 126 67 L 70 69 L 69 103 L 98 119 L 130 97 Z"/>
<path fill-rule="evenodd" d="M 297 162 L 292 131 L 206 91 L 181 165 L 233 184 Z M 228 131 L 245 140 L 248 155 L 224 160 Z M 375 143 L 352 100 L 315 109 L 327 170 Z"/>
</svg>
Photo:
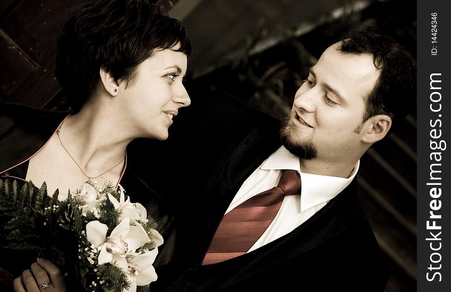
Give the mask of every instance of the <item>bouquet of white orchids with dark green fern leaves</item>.
<svg viewBox="0 0 451 292">
<path fill-rule="evenodd" d="M 0 267 L 19 275 L 45 257 L 75 291 L 149 291 L 163 239 L 141 204 L 111 182 L 87 181 L 67 197 L 46 189 L 0 179 Z"/>
</svg>

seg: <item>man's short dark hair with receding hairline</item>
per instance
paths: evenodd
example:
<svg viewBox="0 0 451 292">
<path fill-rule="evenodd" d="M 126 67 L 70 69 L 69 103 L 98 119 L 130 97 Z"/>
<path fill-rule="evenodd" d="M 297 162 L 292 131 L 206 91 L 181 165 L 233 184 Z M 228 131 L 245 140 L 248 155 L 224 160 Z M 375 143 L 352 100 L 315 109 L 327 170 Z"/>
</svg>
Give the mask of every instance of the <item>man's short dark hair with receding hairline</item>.
<svg viewBox="0 0 451 292">
<path fill-rule="evenodd" d="M 373 31 L 351 32 L 338 50 L 346 54 L 372 54 L 380 75 L 373 91 L 366 97 L 363 122 L 385 114 L 392 118 L 392 129 L 406 117 L 416 103 L 416 66 L 409 53 L 389 37 Z"/>
</svg>

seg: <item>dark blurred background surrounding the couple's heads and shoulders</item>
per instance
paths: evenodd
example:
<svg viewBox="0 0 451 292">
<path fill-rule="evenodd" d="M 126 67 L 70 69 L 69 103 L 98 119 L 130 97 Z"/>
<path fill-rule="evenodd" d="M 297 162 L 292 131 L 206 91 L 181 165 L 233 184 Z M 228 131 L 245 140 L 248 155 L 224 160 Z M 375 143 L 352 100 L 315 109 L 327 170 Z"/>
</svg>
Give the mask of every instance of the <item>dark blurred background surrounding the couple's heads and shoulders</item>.
<svg viewBox="0 0 451 292">
<path fill-rule="evenodd" d="M 70 109 L 53 74 L 55 40 L 68 10 L 82 1 L 0 1 L 0 101 Z M 279 119 L 290 111 L 309 67 L 350 30 L 388 35 L 416 61 L 416 1 L 158 3 L 182 21 L 192 39 L 186 83 L 227 91 Z M 362 157 L 358 177 L 358 196 L 390 263 L 386 292 L 416 291 L 416 102 L 412 105 L 401 129 Z"/>
</svg>

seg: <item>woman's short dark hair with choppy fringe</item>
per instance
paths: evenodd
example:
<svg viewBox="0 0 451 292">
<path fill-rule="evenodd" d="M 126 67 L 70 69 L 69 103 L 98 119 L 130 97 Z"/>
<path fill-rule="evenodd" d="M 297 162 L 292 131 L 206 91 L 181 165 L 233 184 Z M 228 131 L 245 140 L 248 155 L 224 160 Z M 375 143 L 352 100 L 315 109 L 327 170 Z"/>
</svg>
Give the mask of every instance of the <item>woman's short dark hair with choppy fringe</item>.
<svg viewBox="0 0 451 292">
<path fill-rule="evenodd" d="M 94 92 L 103 68 L 133 82 L 136 69 L 158 50 L 191 54 L 186 29 L 149 0 L 89 0 L 72 10 L 57 39 L 56 71 L 73 110 Z"/>
</svg>

